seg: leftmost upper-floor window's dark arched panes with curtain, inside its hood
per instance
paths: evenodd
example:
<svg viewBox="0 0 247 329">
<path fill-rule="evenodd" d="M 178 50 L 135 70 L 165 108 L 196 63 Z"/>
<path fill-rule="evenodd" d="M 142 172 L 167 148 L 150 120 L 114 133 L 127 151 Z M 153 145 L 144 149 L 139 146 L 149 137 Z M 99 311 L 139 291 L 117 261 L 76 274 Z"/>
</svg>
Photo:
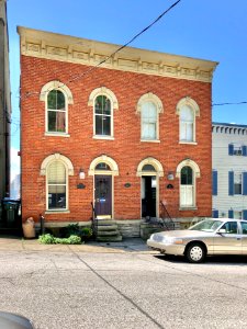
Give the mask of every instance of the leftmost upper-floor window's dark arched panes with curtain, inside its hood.
<svg viewBox="0 0 247 329">
<path fill-rule="evenodd" d="M 52 90 L 47 95 L 47 132 L 67 132 L 66 100 L 60 90 Z"/>
</svg>

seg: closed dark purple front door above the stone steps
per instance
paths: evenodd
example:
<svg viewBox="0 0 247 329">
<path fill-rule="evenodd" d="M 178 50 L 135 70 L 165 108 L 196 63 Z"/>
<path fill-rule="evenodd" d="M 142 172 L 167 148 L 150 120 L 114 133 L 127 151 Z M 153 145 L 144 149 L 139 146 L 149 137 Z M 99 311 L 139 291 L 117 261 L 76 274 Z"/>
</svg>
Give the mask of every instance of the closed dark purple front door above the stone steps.
<svg viewBox="0 0 247 329">
<path fill-rule="evenodd" d="M 94 208 L 98 216 L 112 216 L 111 175 L 94 175 Z"/>
</svg>

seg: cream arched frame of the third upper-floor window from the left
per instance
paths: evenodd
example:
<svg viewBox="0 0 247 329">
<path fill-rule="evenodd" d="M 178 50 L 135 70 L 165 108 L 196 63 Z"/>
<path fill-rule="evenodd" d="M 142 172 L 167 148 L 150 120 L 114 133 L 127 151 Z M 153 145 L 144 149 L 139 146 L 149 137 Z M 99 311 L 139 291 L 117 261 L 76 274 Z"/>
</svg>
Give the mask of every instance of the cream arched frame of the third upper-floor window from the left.
<svg viewBox="0 0 247 329">
<path fill-rule="evenodd" d="M 150 138 L 150 139 L 143 138 L 143 114 L 142 114 L 143 111 L 142 110 L 143 110 L 143 105 L 147 102 L 150 102 L 155 105 L 156 113 L 157 113 L 156 137 Z M 141 141 L 160 143 L 160 140 L 159 140 L 159 113 L 164 113 L 164 106 L 162 106 L 162 102 L 160 101 L 160 99 L 151 92 L 143 94 L 137 102 L 136 113 L 141 114 Z"/>
</svg>

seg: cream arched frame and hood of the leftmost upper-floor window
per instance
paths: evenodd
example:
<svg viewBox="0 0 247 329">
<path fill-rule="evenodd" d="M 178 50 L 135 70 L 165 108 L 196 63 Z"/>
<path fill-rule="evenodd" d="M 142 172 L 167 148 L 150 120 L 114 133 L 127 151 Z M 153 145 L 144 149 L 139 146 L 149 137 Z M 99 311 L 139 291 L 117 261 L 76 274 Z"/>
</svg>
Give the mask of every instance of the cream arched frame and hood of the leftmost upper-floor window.
<svg viewBox="0 0 247 329">
<path fill-rule="evenodd" d="M 59 90 L 60 92 L 64 93 L 65 97 L 65 111 L 59 111 L 59 110 L 49 110 L 48 109 L 48 93 L 52 90 Z M 49 81 L 47 82 L 41 90 L 40 93 L 40 101 L 45 102 L 45 136 L 60 136 L 60 137 L 69 137 L 70 135 L 68 134 L 69 127 L 68 127 L 68 104 L 74 104 L 74 99 L 72 99 L 72 93 L 69 90 L 69 88 L 57 80 Z M 66 131 L 65 132 L 49 132 L 48 131 L 48 111 L 56 111 L 56 112 L 66 112 L 65 115 L 65 126 Z"/>
</svg>

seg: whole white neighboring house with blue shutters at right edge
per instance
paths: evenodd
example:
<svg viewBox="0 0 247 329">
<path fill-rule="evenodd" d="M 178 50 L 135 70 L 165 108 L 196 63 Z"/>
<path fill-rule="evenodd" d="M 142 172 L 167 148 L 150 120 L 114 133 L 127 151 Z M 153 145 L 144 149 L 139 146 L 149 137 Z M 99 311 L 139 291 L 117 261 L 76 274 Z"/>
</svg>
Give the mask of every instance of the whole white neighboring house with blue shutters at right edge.
<svg viewBox="0 0 247 329">
<path fill-rule="evenodd" d="M 247 125 L 213 123 L 213 217 L 247 219 Z"/>
</svg>

